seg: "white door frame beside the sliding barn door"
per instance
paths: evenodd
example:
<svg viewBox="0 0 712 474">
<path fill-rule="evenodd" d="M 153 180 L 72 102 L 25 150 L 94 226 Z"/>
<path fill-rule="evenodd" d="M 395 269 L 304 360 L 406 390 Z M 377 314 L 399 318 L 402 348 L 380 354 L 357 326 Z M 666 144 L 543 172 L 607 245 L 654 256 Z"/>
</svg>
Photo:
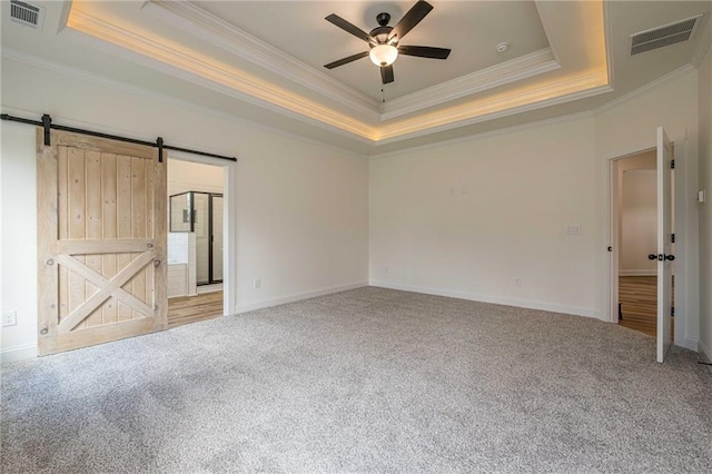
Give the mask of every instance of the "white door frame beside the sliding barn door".
<svg viewBox="0 0 712 474">
<path fill-rule="evenodd" d="M 237 310 L 237 161 L 168 150 L 169 167 L 171 159 L 222 168 L 222 315 L 233 315 Z"/>
</svg>

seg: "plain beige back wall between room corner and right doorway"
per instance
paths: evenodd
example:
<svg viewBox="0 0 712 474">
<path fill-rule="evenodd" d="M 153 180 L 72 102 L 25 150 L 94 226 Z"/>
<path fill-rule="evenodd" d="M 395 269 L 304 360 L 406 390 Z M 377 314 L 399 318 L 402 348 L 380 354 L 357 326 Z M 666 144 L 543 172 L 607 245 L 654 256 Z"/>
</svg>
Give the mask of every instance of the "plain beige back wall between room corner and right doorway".
<svg viewBox="0 0 712 474">
<path fill-rule="evenodd" d="M 372 284 L 594 316 L 594 148 L 589 115 L 372 159 Z"/>
</svg>

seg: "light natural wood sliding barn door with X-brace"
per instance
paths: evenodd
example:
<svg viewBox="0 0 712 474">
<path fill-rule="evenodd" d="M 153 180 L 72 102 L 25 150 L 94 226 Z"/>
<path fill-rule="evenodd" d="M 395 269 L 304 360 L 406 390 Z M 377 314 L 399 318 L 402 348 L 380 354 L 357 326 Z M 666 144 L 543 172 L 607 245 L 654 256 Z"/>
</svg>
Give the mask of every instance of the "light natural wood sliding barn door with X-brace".
<svg viewBox="0 0 712 474">
<path fill-rule="evenodd" d="M 166 328 L 166 159 L 38 129 L 39 354 Z"/>
</svg>

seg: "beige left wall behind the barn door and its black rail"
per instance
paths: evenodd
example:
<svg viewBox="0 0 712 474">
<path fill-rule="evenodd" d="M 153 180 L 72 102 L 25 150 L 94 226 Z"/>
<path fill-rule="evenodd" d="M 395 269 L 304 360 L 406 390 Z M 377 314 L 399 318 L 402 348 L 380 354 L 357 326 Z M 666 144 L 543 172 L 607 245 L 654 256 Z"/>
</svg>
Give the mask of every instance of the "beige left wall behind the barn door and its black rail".
<svg viewBox="0 0 712 474">
<path fill-rule="evenodd" d="M 367 284 L 365 157 L 6 58 L 1 92 L 3 112 L 238 156 L 233 310 Z M 34 160 L 32 127 L 3 121 L 2 310 L 18 309 L 3 358 L 36 344 Z"/>
</svg>

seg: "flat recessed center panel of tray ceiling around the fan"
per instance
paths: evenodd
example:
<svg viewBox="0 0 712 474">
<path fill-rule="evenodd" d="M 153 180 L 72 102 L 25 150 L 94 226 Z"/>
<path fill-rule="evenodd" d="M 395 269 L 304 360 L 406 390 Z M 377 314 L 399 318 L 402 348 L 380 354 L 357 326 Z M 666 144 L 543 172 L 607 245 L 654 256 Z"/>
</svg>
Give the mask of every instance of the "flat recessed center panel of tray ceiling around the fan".
<svg viewBox="0 0 712 474">
<path fill-rule="evenodd" d="M 390 26 L 395 26 L 414 1 L 269 3 L 265 8 L 265 2 L 208 1 L 200 2 L 200 8 L 374 100 L 382 99 L 380 75 L 368 58 L 333 70 L 324 68 L 328 62 L 368 50 L 365 41 L 324 17 L 336 13 L 368 32 L 378 26 L 376 14 L 390 13 Z M 532 1 L 472 2 L 467 7 L 463 8 L 463 2 L 436 3 L 405 37 L 402 45 L 449 48 L 452 53 L 444 61 L 398 58 L 394 65 L 396 81 L 386 85 L 387 98 L 395 99 L 548 47 Z M 502 41 L 511 45 L 504 55 L 495 50 Z"/>
</svg>

